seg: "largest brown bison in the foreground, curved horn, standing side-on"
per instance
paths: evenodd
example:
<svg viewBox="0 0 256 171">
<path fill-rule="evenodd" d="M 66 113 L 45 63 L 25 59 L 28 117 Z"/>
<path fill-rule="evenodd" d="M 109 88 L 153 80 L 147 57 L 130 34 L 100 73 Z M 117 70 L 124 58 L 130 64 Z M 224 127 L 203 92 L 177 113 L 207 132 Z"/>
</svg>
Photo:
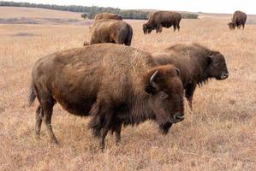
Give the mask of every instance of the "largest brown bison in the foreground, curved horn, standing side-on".
<svg viewBox="0 0 256 171">
<path fill-rule="evenodd" d="M 35 63 L 29 102 L 37 97 L 35 132 L 45 121 L 51 129 L 55 103 L 74 115 L 92 115 L 89 126 L 101 136 L 109 131 L 121 139 L 122 124 L 136 125 L 146 120 L 158 122 L 163 133 L 172 123 L 182 121 L 183 86 L 179 70 L 168 64 L 159 66 L 150 54 L 120 44 L 93 44 L 63 50 Z"/>
</svg>

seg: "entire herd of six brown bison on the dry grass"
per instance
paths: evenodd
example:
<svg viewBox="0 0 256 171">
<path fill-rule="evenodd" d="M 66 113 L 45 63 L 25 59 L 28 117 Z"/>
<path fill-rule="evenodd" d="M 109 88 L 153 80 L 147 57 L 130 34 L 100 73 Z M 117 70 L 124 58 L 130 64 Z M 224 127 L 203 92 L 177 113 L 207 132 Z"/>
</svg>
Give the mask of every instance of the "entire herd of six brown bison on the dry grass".
<svg viewBox="0 0 256 171">
<path fill-rule="evenodd" d="M 236 11 L 229 27 L 244 27 L 246 18 Z M 158 11 L 143 32 L 180 30 L 181 20 L 179 13 Z M 184 120 L 183 97 L 192 109 L 197 85 L 229 77 L 223 54 L 201 44 L 176 44 L 154 53 L 129 47 L 133 29 L 120 15 L 96 15 L 91 34 L 85 47 L 58 51 L 35 63 L 29 103 L 39 100 L 37 136 L 44 121 L 51 142 L 57 143 L 51 127 L 56 103 L 73 115 L 91 116 L 88 126 L 102 150 L 109 132 L 116 133 L 116 144 L 121 141 L 122 126 L 152 120 L 166 134 Z"/>
</svg>

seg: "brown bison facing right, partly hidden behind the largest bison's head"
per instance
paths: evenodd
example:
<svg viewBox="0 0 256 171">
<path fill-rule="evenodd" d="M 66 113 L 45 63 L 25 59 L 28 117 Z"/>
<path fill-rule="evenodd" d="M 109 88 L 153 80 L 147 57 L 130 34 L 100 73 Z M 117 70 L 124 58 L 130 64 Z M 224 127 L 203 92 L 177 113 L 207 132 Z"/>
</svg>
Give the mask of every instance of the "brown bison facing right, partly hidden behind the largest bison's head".
<svg viewBox="0 0 256 171">
<path fill-rule="evenodd" d="M 176 44 L 152 56 L 161 65 L 173 64 L 181 70 L 185 96 L 191 109 L 196 85 L 203 85 L 211 78 L 225 80 L 229 76 L 224 56 L 200 44 Z"/>
</svg>

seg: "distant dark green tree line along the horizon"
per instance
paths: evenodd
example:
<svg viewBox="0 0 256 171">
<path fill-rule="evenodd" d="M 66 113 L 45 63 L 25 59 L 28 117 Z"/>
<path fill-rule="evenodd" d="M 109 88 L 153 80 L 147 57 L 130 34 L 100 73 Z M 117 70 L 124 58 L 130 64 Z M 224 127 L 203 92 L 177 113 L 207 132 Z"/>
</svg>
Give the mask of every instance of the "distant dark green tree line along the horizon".
<svg viewBox="0 0 256 171">
<path fill-rule="evenodd" d="M 93 19 L 98 13 L 109 12 L 122 15 L 123 19 L 138 19 L 146 20 L 150 15 L 150 12 L 144 10 L 123 10 L 118 8 L 111 7 L 86 7 L 80 5 L 50 5 L 50 4 L 37 4 L 37 3 L 15 3 L 15 2 L 5 2 L 0 1 L 0 6 L 9 6 L 9 7 L 30 7 L 30 8 L 41 8 L 41 9 L 54 9 L 54 10 L 63 10 L 63 11 L 72 11 L 83 13 L 81 17 L 87 19 Z M 197 18 L 198 15 L 195 14 L 182 14 L 183 18 Z"/>
</svg>

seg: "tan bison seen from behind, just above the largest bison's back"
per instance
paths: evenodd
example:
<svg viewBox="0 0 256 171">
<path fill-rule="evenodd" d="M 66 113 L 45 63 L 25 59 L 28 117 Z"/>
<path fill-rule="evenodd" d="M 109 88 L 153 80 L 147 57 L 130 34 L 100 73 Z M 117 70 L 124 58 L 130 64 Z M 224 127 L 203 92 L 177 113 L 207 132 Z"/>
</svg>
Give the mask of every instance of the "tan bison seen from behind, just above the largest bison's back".
<svg viewBox="0 0 256 171">
<path fill-rule="evenodd" d="M 90 43 L 85 42 L 84 46 L 101 43 L 131 45 L 133 28 L 125 21 L 104 19 L 93 23 L 91 34 Z"/>
</svg>

